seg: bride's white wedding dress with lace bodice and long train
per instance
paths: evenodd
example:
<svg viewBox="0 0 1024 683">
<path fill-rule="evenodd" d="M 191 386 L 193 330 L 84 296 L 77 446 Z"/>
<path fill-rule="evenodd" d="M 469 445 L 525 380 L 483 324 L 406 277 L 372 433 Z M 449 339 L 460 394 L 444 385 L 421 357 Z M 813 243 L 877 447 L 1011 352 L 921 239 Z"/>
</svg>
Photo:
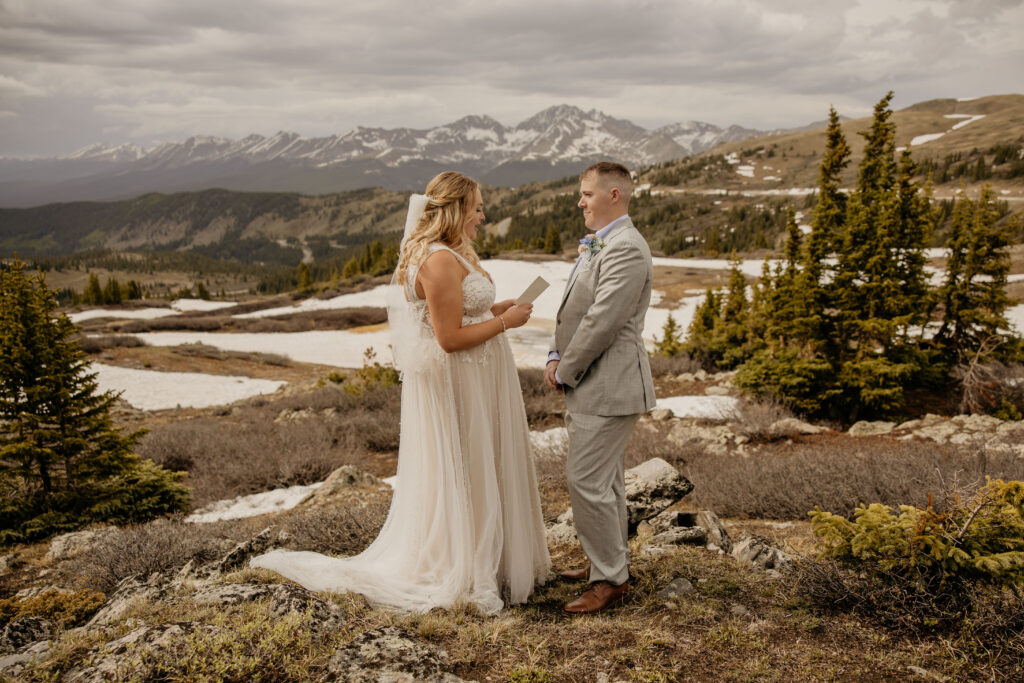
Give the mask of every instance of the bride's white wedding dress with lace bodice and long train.
<svg viewBox="0 0 1024 683">
<path fill-rule="evenodd" d="M 462 324 L 493 317 L 494 284 L 456 256 L 469 269 Z M 423 357 L 402 378 L 398 475 L 380 535 L 353 557 L 275 550 L 252 565 L 402 611 L 461 600 L 494 613 L 524 602 L 551 567 L 515 362 L 503 334 L 445 353 L 426 302 L 410 299 Z"/>
</svg>

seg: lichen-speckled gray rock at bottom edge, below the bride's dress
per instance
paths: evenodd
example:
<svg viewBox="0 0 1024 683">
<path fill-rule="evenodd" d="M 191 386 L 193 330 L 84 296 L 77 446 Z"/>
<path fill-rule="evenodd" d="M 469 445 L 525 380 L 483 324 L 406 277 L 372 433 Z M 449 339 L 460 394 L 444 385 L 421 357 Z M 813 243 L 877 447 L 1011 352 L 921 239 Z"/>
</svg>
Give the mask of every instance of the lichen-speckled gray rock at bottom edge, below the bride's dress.
<svg viewBox="0 0 1024 683">
<path fill-rule="evenodd" d="M 446 672 L 447 652 L 393 626 L 359 634 L 335 651 L 327 668 L 323 681 L 460 683 L 463 680 Z"/>
</svg>

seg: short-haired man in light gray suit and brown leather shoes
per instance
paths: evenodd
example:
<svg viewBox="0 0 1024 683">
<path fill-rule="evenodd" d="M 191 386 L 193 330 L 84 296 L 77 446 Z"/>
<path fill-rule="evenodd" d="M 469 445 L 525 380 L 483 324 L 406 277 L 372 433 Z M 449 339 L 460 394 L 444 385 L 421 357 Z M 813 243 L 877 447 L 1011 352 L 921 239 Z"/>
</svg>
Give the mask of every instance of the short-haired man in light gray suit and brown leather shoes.
<svg viewBox="0 0 1024 683">
<path fill-rule="evenodd" d="M 565 393 L 569 500 L 590 566 L 565 571 L 588 580 L 573 614 L 592 614 L 629 591 L 626 442 L 654 408 L 654 383 L 641 332 L 653 276 L 650 249 L 629 216 L 633 180 L 611 162 L 580 176 L 580 208 L 592 234 L 580 241 L 555 322 L 544 379 Z"/>
</svg>

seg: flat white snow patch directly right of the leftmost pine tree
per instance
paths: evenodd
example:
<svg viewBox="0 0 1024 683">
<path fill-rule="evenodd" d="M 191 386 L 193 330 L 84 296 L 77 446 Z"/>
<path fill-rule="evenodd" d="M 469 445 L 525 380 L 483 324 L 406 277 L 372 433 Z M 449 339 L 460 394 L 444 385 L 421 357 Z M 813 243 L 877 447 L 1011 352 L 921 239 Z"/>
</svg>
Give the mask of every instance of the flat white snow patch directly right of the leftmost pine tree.
<svg viewBox="0 0 1024 683">
<path fill-rule="evenodd" d="M 223 405 L 261 393 L 273 393 L 287 384 L 203 373 L 161 373 L 153 370 L 92 364 L 100 391 L 120 391 L 121 397 L 142 411 Z"/>
</svg>

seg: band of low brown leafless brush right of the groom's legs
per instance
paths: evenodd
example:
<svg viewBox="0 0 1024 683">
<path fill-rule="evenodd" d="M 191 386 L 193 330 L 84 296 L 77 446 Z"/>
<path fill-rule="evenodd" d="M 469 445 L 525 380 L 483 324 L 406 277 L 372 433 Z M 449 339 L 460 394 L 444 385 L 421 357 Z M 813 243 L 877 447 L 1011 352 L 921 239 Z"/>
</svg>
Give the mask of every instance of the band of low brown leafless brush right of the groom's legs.
<svg viewBox="0 0 1024 683">
<path fill-rule="evenodd" d="M 930 440 L 821 434 L 722 456 L 697 442 L 676 445 L 668 429 L 641 424 L 627 466 L 652 457 L 673 463 L 693 482 L 685 505 L 724 517 L 806 519 L 814 506 L 838 514 L 869 503 L 924 506 L 929 494 L 942 501 L 954 488 L 984 483 L 986 475 L 1024 479 L 1022 459 Z"/>
</svg>

